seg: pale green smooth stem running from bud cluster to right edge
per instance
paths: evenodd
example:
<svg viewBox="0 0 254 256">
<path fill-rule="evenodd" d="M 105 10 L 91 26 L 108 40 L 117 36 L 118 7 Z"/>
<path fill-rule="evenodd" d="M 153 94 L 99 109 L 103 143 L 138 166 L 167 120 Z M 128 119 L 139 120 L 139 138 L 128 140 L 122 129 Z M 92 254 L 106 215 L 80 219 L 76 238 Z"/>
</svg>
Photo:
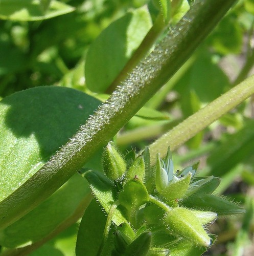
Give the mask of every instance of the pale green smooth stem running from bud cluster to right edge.
<svg viewBox="0 0 254 256">
<path fill-rule="evenodd" d="M 150 145 L 151 164 L 155 164 L 157 153 L 166 156 L 169 145 L 172 151 L 175 150 L 253 93 L 254 76 L 251 76 L 175 126 Z"/>
</svg>

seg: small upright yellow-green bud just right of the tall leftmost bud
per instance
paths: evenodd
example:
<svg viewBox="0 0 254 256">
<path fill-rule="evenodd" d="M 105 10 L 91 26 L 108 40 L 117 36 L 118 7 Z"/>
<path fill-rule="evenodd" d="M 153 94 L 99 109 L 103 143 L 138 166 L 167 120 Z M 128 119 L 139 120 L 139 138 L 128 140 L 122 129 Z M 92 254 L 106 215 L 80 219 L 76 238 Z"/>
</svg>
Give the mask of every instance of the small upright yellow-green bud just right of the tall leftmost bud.
<svg viewBox="0 0 254 256">
<path fill-rule="evenodd" d="M 142 182 L 145 179 L 145 161 L 143 156 L 138 156 L 126 172 L 125 182 L 138 177 Z"/>
</svg>

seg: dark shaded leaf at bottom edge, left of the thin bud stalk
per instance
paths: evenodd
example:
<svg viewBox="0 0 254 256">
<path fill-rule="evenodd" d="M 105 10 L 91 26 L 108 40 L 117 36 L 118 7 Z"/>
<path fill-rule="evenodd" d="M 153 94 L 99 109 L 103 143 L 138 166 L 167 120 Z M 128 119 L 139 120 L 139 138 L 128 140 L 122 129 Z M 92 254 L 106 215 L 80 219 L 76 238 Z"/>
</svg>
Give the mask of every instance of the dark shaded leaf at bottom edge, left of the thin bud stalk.
<svg viewBox="0 0 254 256">
<path fill-rule="evenodd" d="M 93 199 L 85 210 L 79 226 L 76 255 L 97 255 L 103 238 L 107 217 L 102 208 Z"/>
</svg>

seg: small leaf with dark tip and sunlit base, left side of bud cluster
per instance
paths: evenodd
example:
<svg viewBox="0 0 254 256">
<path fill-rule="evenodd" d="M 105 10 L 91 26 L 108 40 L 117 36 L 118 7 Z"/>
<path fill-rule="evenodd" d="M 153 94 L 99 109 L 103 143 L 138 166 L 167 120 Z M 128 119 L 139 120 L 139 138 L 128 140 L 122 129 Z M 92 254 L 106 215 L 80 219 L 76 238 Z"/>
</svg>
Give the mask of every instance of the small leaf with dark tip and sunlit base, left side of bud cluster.
<svg viewBox="0 0 254 256">
<path fill-rule="evenodd" d="M 91 170 L 85 172 L 83 176 L 89 182 L 90 188 L 97 200 L 108 213 L 112 204 L 117 200 L 113 181 L 108 179 L 106 175 Z M 127 222 L 118 208 L 114 211 L 112 221 L 117 225 Z"/>
</svg>

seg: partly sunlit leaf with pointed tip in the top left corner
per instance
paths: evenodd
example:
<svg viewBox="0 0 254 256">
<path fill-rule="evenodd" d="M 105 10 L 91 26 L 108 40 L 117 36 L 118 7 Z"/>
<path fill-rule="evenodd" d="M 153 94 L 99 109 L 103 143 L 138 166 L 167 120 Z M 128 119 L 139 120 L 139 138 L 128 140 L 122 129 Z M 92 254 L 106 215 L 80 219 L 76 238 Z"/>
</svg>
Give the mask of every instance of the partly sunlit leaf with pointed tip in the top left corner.
<svg viewBox="0 0 254 256">
<path fill-rule="evenodd" d="M 44 5 L 43 5 L 44 6 Z M 41 8 L 39 0 L 0 0 L 0 19 L 17 21 L 32 21 L 53 18 L 69 12 L 75 8 L 52 0 L 47 10 Z"/>
</svg>

